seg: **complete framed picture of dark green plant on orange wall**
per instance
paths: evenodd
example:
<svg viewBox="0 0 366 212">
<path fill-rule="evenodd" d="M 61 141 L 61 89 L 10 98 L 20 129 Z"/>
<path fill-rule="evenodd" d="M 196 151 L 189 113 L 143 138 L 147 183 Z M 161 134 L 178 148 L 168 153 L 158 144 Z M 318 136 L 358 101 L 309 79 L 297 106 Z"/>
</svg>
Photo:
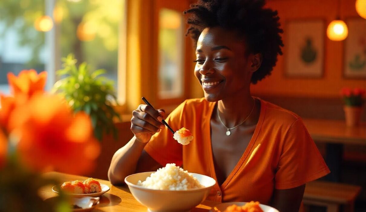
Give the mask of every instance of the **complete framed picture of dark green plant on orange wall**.
<svg viewBox="0 0 366 212">
<path fill-rule="evenodd" d="M 320 78 L 324 71 L 324 20 L 293 20 L 285 27 L 285 76 Z"/>
</svg>

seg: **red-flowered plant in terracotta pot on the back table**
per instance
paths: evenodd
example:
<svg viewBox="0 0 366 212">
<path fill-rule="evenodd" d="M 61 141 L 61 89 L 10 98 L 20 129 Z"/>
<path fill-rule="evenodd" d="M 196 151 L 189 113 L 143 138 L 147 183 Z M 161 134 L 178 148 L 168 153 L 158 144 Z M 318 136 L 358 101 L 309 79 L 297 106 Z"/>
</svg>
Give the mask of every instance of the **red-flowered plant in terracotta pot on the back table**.
<svg viewBox="0 0 366 212">
<path fill-rule="evenodd" d="M 344 101 L 344 115 L 347 126 L 357 126 L 360 123 L 362 106 L 365 103 L 365 89 L 343 88 L 341 96 Z"/>
</svg>

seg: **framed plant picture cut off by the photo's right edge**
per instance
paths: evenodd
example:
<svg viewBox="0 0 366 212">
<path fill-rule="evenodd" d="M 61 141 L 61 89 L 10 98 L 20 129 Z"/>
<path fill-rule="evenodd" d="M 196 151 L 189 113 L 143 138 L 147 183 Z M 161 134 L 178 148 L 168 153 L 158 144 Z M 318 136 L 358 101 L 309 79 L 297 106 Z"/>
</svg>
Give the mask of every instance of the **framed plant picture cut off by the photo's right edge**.
<svg viewBox="0 0 366 212">
<path fill-rule="evenodd" d="M 344 77 L 366 78 L 366 20 L 346 20 L 348 36 L 344 41 Z"/>
</svg>

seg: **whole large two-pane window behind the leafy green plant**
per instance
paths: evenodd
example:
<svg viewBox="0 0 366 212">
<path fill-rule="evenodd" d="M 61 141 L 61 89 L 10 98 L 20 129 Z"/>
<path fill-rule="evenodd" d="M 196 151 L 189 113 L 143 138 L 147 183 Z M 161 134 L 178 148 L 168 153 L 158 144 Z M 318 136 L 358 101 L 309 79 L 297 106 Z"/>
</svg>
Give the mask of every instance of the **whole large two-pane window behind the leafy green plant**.
<svg viewBox="0 0 366 212">
<path fill-rule="evenodd" d="M 115 81 L 116 91 L 125 92 L 119 88 L 125 83 L 117 81 L 124 80 L 121 75 L 125 74 L 118 55 L 123 53 L 120 47 L 124 47 L 120 37 L 124 32 L 124 3 L 125 0 L 1 1 L 0 32 L 4 33 L 0 33 L 0 92 L 9 93 L 7 72 L 18 74 L 23 69 L 47 70 L 50 89 L 57 80 L 54 75 L 61 68 L 61 57 L 69 53 L 93 70 L 105 69 L 105 77 Z M 47 20 L 42 22 L 42 18 Z M 125 95 L 117 96 L 123 103 Z"/>
</svg>

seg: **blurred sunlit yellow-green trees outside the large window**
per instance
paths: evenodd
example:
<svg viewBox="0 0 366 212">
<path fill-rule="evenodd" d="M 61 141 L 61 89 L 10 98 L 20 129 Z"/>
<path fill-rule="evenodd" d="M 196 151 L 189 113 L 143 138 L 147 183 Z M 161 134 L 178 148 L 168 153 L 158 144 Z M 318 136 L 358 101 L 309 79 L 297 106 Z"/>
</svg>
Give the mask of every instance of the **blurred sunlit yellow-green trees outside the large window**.
<svg viewBox="0 0 366 212">
<path fill-rule="evenodd" d="M 104 68 L 107 77 L 117 79 L 118 31 L 123 7 L 124 0 L 56 0 L 52 18 L 53 27 L 59 27 L 56 42 L 61 57 L 74 53 L 80 63 Z M 35 21 L 43 15 L 45 0 L 0 1 L 0 22 L 5 23 L 0 39 L 8 27 L 14 28 L 19 34 L 19 46 L 32 51 L 26 64 L 29 68 L 41 64 L 40 52 L 47 51 L 45 32 L 34 28 Z"/>
</svg>

